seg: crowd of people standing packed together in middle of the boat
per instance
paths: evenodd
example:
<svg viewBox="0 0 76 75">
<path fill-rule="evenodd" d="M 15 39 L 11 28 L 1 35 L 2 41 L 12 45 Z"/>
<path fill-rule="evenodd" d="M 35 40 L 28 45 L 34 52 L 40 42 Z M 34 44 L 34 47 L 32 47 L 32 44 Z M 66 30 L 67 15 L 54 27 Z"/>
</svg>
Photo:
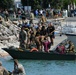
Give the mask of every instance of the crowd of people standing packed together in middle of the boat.
<svg viewBox="0 0 76 75">
<path fill-rule="evenodd" d="M 38 51 L 42 51 L 44 48 L 45 52 L 49 52 L 54 44 L 54 31 L 55 27 L 51 22 L 48 25 L 42 22 L 36 28 L 34 25 L 31 27 L 24 25 L 19 33 L 20 48 L 36 48 Z"/>
</svg>

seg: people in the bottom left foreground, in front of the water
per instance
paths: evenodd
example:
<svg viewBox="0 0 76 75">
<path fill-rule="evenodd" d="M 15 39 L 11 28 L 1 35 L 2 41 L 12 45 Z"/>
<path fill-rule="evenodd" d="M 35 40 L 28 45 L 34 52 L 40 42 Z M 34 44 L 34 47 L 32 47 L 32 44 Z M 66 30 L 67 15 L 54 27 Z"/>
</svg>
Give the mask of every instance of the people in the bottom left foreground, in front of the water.
<svg viewBox="0 0 76 75">
<path fill-rule="evenodd" d="M 0 61 L 0 75 L 26 75 L 26 73 L 23 65 L 17 59 L 14 59 L 14 70 L 12 72 L 3 67 Z"/>
</svg>

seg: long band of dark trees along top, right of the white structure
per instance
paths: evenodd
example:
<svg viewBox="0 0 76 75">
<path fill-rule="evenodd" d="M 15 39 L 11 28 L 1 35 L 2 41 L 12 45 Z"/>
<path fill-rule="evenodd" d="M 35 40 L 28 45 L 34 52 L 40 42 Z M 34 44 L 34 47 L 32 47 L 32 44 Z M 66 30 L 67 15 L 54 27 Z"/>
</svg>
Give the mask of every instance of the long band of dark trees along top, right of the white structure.
<svg viewBox="0 0 76 75">
<path fill-rule="evenodd" d="M 76 3 L 76 0 L 21 0 L 23 6 L 30 5 L 32 9 L 48 8 L 48 5 L 56 9 L 67 9 L 68 4 Z"/>
</svg>

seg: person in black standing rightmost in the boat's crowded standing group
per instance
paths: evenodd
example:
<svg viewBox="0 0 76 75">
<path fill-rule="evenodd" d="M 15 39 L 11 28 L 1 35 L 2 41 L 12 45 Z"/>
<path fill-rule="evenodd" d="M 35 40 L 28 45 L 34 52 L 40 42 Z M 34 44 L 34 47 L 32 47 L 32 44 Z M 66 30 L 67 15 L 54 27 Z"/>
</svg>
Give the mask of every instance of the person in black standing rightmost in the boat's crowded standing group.
<svg viewBox="0 0 76 75">
<path fill-rule="evenodd" d="M 51 45 L 54 44 L 54 41 L 53 41 L 53 39 L 55 38 L 54 31 L 55 31 L 55 27 L 50 22 L 46 29 L 46 32 L 47 32 L 48 36 L 50 37 Z"/>
</svg>

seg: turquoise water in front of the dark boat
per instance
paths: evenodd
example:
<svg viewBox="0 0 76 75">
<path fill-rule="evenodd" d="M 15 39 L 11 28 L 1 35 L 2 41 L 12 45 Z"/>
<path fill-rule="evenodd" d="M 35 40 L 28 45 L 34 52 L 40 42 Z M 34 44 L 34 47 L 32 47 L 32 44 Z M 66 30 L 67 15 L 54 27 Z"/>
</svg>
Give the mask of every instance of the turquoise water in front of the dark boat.
<svg viewBox="0 0 76 75">
<path fill-rule="evenodd" d="M 9 71 L 13 70 L 13 60 L 0 58 Z M 19 60 L 23 64 L 26 75 L 76 75 L 76 60 Z"/>
</svg>

